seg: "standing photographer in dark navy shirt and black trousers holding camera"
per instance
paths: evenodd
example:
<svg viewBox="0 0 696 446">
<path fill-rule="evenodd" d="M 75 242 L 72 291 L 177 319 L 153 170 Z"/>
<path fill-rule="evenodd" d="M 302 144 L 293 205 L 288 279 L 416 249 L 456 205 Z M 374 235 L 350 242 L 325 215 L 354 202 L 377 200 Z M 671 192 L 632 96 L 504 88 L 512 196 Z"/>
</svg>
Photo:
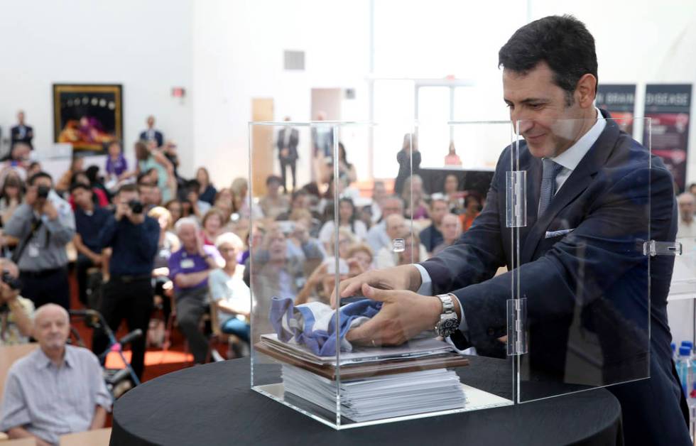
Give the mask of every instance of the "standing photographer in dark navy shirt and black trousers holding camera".
<svg viewBox="0 0 696 446">
<path fill-rule="evenodd" d="M 139 328 L 146 333 L 153 308 L 151 276 L 160 226 L 156 219 L 143 213 L 136 185 L 121 186 L 114 204 L 114 215 L 99 232 L 102 250 L 112 249 L 109 281 L 102 289 L 99 311 L 114 332 L 125 319 L 129 331 Z M 131 366 L 138 378 L 143 375 L 145 343 L 145 336 L 131 343 Z M 108 345 L 107 335 L 102 330 L 94 330 L 92 352 L 101 354 Z"/>
</svg>

